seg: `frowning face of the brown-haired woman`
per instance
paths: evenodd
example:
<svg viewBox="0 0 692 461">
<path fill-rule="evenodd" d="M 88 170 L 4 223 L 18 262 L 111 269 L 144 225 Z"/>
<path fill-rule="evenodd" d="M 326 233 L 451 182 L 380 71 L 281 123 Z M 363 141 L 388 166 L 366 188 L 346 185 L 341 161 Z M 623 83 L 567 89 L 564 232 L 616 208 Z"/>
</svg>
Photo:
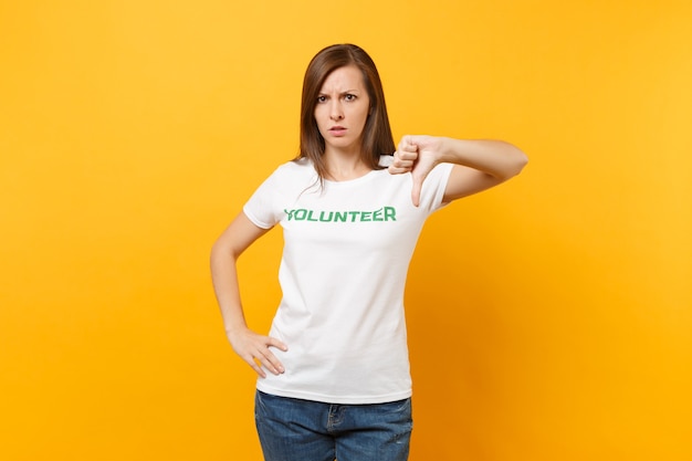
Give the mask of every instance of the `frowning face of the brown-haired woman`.
<svg viewBox="0 0 692 461">
<path fill-rule="evenodd" d="M 360 153 L 363 129 L 370 111 L 370 98 L 358 67 L 348 65 L 332 72 L 315 106 L 315 122 L 329 151 Z"/>
</svg>

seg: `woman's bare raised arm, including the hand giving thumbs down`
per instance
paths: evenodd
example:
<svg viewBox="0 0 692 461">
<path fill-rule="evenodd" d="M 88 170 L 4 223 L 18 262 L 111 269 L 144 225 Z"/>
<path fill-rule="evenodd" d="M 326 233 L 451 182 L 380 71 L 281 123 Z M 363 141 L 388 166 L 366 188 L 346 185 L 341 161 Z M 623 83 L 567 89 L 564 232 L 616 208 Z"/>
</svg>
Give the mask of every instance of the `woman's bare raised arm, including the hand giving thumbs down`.
<svg viewBox="0 0 692 461">
<path fill-rule="evenodd" d="M 411 172 L 411 199 L 418 206 L 423 180 L 438 164 L 454 164 L 443 198 L 450 202 L 506 181 L 527 161 L 521 149 L 502 140 L 408 135 L 399 143 L 389 172 Z"/>
</svg>

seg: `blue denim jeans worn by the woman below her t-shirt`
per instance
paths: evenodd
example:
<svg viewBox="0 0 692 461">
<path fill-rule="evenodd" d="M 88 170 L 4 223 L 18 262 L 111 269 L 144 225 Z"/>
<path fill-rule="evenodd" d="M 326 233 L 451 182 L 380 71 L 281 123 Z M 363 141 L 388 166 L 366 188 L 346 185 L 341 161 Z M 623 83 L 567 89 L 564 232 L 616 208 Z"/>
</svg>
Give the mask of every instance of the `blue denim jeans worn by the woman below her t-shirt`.
<svg viewBox="0 0 692 461">
<path fill-rule="evenodd" d="M 411 399 L 336 405 L 258 390 L 255 422 L 265 461 L 406 461 Z"/>
</svg>

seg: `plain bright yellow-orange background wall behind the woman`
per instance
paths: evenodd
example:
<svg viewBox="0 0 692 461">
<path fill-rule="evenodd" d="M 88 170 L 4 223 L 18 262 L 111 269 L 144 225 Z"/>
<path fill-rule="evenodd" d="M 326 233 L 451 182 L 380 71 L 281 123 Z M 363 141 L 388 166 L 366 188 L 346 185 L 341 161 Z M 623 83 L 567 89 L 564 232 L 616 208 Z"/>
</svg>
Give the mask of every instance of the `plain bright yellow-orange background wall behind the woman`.
<svg viewBox="0 0 692 461">
<path fill-rule="evenodd" d="M 685 0 L 2 1 L 0 459 L 261 459 L 208 254 L 295 154 L 308 60 L 354 42 L 397 139 L 531 158 L 421 237 L 411 460 L 691 460 L 691 24 Z M 260 331 L 280 249 L 241 260 Z"/>
</svg>

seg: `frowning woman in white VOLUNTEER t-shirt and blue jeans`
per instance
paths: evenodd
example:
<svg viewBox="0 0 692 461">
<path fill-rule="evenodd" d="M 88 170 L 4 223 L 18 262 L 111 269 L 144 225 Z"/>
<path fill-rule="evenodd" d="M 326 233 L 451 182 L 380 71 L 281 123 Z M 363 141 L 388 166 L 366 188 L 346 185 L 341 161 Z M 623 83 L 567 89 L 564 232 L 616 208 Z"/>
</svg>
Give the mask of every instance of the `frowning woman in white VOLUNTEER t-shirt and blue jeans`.
<svg viewBox="0 0 692 461">
<path fill-rule="evenodd" d="M 298 158 L 259 187 L 211 254 L 228 338 L 259 375 L 255 419 L 265 460 L 408 458 L 402 301 L 418 235 L 430 213 L 525 164 L 503 142 L 405 136 L 395 147 L 368 54 L 339 44 L 313 57 Z M 275 224 L 285 241 L 283 297 L 264 336 L 245 324 L 235 262 Z"/>
</svg>

